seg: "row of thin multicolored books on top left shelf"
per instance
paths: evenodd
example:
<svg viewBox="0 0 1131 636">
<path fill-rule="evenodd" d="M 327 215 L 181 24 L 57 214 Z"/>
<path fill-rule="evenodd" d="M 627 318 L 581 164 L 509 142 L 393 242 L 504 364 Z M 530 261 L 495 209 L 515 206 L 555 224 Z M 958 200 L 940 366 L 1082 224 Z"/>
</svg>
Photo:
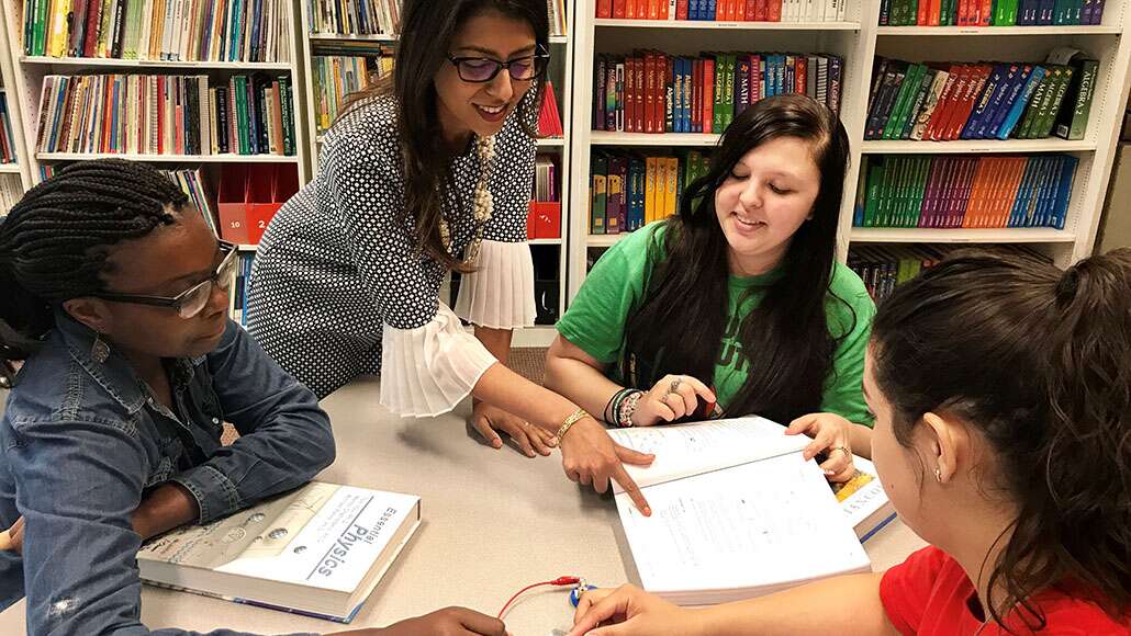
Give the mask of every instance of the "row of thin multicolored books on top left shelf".
<svg viewBox="0 0 1131 636">
<path fill-rule="evenodd" d="M 279 0 L 28 0 L 24 53 L 52 58 L 287 62 Z"/>
</svg>

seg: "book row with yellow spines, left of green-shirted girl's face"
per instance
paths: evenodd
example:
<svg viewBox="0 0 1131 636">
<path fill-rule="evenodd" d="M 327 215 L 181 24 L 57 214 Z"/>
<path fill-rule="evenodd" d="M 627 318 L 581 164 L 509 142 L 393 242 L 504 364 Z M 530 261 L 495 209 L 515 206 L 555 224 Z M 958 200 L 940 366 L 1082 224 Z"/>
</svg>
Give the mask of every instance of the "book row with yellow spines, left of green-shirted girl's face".
<svg viewBox="0 0 1131 636">
<path fill-rule="evenodd" d="M 698 150 L 679 156 L 595 151 L 589 177 L 589 234 L 620 234 L 673 216 L 683 190 L 707 173 Z"/>
</svg>

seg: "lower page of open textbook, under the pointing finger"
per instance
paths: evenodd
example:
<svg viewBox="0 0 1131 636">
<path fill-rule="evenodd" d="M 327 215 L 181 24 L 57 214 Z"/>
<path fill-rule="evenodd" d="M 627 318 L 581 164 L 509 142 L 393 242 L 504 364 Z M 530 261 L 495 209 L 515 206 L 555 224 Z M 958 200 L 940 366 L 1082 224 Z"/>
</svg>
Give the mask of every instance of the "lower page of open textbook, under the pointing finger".
<svg viewBox="0 0 1131 636">
<path fill-rule="evenodd" d="M 683 604 L 749 598 L 871 565 L 820 468 L 798 453 L 616 495 L 644 589 Z"/>
</svg>

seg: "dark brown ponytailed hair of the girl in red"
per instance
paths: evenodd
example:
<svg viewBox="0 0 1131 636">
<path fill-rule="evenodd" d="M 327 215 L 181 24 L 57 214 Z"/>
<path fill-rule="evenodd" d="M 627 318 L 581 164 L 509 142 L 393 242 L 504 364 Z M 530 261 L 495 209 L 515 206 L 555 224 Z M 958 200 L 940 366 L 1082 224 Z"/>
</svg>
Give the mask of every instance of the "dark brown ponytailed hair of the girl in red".
<svg viewBox="0 0 1131 636">
<path fill-rule="evenodd" d="M 961 418 L 993 448 L 987 493 L 1018 506 L 986 608 L 1045 625 L 1029 599 L 1073 590 L 1119 617 L 1131 601 L 1131 250 L 1065 272 L 965 254 L 900 286 L 872 328 L 877 385 L 912 445 L 924 413 Z M 1008 539 L 1007 539 L 1008 537 Z M 1080 592 L 1077 591 L 1079 594 Z M 1001 611 L 999 611 L 1001 610 Z"/>
</svg>

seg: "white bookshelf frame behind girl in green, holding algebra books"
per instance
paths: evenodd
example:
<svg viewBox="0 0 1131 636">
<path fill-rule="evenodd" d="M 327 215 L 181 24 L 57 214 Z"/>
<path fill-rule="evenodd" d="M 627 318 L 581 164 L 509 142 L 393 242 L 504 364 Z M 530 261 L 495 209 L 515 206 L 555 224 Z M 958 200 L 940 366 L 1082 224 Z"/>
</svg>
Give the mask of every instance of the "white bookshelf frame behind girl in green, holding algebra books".
<svg viewBox="0 0 1131 636">
<path fill-rule="evenodd" d="M 596 1 L 586 0 L 576 11 L 573 29 L 575 90 L 573 134 L 569 188 L 572 200 L 588 201 L 590 158 L 595 150 L 627 147 L 710 148 L 717 134 L 627 133 L 593 131 L 595 55 L 627 54 L 634 50 L 697 55 L 700 51 L 828 53 L 845 60 L 840 117 L 852 153 L 840 210 L 838 259 L 845 262 L 855 245 L 897 244 L 1024 244 L 1052 256 L 1065 267 L 1091 253 L 1104 194 L 1112 169 L 1128 97 L 1131 59 L 1128 5 L 1111 0 L 1103 21 L 1090 26 L 879 26 L 878 0 L 848 0 L 844 21 L 836 23 L 710 23 L 682 20 L 597 19 Z M 1099 75 L 1088 129 L 1082 140 L 1010 139 L 972 141 L 865 141 L 873 60 L 877 56 L 906 61 L 1044 61 L 1056 46 L 1074 46 L 1099 60 Z M 1079 164 L 1072 184 L 1067 223 L 1054 228 L 872 228 L 853 227 L 857 177 L 862 163 L 873 155 L 1003 155 L 1067 154 Z M 570 215 L 569 293 L 577 294 L 592 261 L 590 250 L 615 244 L 625 234 L 589 233 L 586 204 Z"/>
</svg>

